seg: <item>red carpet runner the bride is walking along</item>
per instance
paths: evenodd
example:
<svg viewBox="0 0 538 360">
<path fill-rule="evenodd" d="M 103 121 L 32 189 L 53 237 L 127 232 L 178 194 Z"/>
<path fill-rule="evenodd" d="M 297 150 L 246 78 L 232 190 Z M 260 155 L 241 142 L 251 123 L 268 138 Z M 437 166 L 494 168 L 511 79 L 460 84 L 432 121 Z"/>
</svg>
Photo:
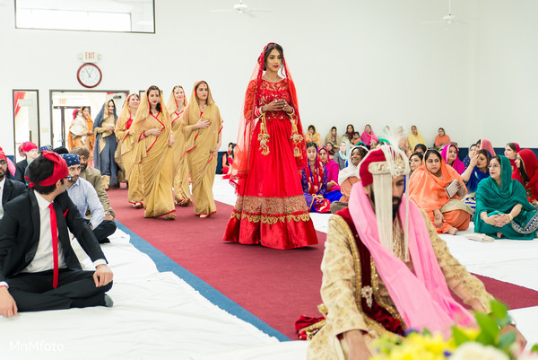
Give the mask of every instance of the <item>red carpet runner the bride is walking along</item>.
<svg viewBox="0 0 538 360">
<path fill-rule="evenodd" d="M 217 214 L 206 219 L 196 217 L 193 206 L 178 206 L 176 221 L 167 221 L 144 219 L 143 209 L 127 203 L 126 189 L 108 197 L 120 223 L 273 329 L 296 339 L 299 315 L 318 316 L 325 233 L 317 232 L 318 245 L 296 250 L 239 245 L 222 241 L 232 206 L 217 202 Z M 534 290 L 480 278 L 511 309 L 538 305 Z"/>
</svg>

